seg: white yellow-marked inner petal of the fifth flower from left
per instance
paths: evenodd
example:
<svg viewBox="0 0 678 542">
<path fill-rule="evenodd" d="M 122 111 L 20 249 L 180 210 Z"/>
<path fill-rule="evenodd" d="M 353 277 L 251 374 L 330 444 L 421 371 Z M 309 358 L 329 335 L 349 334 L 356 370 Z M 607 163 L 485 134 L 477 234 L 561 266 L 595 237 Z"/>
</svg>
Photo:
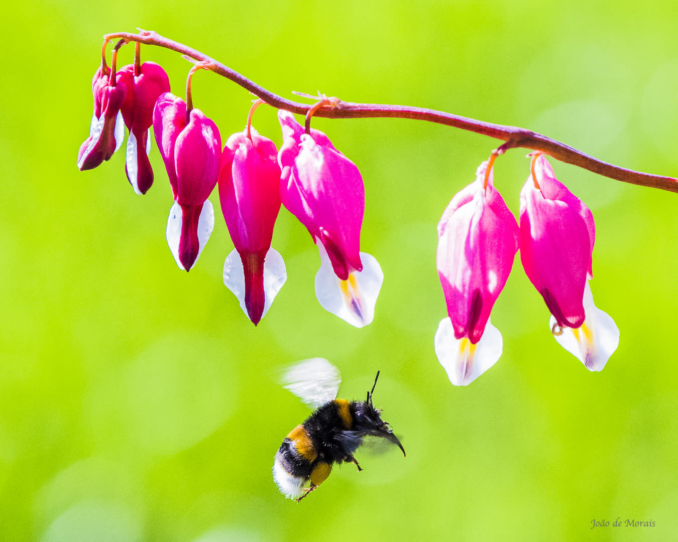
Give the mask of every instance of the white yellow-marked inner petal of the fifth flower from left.
<svg viewBox="0 0 678 542">
<path fill-rule="evenodd" d="M 384 282 L 384 273 L 374 256 L 360 253 L 363 270 L 354 271 L 348 280 L 340 280 L 334 274 L 332 262 L 322 243 L 320 269 L 315 275 L 315 297 L 325 310 L 339 316 L 355 327 L 363 327 L 374 319 L 374 306 Z"/>
</svg>

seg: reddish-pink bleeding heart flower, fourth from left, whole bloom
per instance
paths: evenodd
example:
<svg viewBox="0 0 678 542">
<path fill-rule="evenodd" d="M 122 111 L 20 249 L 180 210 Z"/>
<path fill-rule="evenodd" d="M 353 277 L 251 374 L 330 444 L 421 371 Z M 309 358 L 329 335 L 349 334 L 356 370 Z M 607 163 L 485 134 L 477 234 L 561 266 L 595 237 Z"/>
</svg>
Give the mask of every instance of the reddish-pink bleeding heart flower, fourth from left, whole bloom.
<svg viewBox="0 0 678 542">
<path fill-rule="evenodd" d="M 257 325 L 287 278 L 281 255 L 271 248 L 280 210 L 277 148 L 254 128 L 228 138 L 221 157 L 219 199 L 235 249 L 224 262 L 224 284 Z"/>
</svg>

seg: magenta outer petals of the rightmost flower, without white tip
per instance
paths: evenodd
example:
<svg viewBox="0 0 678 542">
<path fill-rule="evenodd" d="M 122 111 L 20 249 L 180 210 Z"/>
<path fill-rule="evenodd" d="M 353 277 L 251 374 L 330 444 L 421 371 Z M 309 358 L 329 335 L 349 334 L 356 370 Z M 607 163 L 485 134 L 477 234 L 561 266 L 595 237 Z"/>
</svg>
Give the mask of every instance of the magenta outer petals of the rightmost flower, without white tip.
<svg viewBox="0 0 678 542">
<path fill-rule="evenodd" d="M 558 182 L 544 157 L 520 194 L 520 254 L 527 277 L 560 326 L 584 322 L 584 286 L 591 273 L 591 211 Z"/>
</svg>

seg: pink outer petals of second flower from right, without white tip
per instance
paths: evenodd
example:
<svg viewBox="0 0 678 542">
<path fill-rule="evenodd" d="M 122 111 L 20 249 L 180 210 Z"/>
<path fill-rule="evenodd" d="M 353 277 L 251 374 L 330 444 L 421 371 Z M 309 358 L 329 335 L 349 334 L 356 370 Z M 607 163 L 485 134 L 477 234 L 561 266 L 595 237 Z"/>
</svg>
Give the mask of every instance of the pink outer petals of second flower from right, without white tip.
<svg viewBox="0 0 678 542">
<path fill-rule="evenodd" d="M 438 224 L 437 268 L 457 339 L 477 343 L 511 273 L 518 249 L 515 218 L 484 169 L 450 202 Z"/>
</svg>

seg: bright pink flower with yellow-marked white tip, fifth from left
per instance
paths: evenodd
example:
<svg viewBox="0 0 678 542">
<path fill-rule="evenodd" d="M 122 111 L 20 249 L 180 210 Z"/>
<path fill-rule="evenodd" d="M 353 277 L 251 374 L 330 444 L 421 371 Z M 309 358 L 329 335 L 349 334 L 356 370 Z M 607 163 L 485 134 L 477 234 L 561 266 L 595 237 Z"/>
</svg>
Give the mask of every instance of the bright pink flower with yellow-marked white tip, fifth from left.
<svg viewBox="0 0 678 542">
<path fill-rule="evenodd" d="M 319 247 L 318 301 L 351 325 L 363 327 L 374 318 L 384 275 L 376 259 L 360 252 L 365 210 L 360 172 L 323 132 L 304 133 L 287 111 L 279 110 L 278 119 L 283 130 L 280 196 Z"/>
</svg>

